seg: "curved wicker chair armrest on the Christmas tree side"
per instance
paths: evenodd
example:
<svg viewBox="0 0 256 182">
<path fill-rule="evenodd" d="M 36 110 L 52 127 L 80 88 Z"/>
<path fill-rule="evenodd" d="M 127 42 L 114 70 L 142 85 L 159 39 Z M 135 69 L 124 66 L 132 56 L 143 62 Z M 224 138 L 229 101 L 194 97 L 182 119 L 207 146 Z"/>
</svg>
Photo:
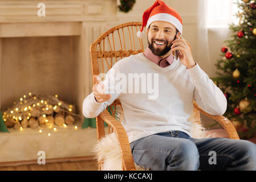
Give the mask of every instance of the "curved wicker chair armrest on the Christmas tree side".
<svg viewBox="0 0 256 182">
<path fill-rule="evenodd" d="M 200 113 L 202 113 L 202 114 L 206 115 L 207 117 L 212 118 L 215 121 L 217 121 L 218 123 L 220 123 L 221 126 L 226 131 L 227 135 L 229 135 L 230 139 L 238 139 L 239 140 L 239 137 L 238 137 L 238 134 L 237 134 L 237 130 L 235 130 L 235 127 L 234 127 L 233 123 L 231 123 L 229 121 L 229 119 L 227 119 L 223 115 L 208 114 L 204 110 L 200 109 L 200 107 L 198 107 L 198 105 L 195 104 L 195 103 L 194 103 L 194 106 L 197 107 L 197 109 L 200 111 Z"/>
</svg>

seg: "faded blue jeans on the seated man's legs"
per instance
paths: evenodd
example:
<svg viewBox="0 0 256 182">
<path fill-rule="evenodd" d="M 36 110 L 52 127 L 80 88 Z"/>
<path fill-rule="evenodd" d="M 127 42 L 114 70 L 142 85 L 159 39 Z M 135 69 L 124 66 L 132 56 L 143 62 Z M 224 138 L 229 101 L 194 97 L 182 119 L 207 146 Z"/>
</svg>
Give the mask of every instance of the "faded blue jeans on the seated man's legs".
<svg viewBox="0 0 256 182">
<path fill-rule="evenodd" d="M 168 131 L 131 143 L 133 160 L 153 171 L 256 170 L 256 144 L 227 138 L 191 138 Z"/>
</svg>

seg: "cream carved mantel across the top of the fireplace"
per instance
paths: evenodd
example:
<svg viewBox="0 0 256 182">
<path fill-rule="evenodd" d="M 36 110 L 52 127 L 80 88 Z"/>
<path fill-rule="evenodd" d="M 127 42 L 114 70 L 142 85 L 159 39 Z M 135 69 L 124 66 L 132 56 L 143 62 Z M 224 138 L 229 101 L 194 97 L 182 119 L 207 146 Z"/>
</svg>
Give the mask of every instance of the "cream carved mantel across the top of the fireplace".
<svg viewBox="0 0 256 182">
<path fill-rule="evenodd" d="M 37 15 L 44 3 L 46 16 Z M 24 22 L 99 22 L 116 20 L 116 0 L 1 1 L 0 23 Z"/>
</svg>

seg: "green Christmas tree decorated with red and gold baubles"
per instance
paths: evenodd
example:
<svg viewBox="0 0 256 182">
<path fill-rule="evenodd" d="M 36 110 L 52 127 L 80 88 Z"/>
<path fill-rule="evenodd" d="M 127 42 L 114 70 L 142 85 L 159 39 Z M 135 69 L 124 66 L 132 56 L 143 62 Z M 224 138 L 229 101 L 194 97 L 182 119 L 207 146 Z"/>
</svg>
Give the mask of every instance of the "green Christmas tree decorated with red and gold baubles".
<svg viewBox="0 0 256 182">
<path fill-rule="evenodd" d="M 224 114 L 238 131 L 241 139 L 256 135 L 256 2 L 239 0 L 239 24 L 229 24 L 233 32 L 221 48 L 222 59 L 214 83 L 227 98 Z M 222 72 L 219 72 L 222 71 Z"/>
</svg>

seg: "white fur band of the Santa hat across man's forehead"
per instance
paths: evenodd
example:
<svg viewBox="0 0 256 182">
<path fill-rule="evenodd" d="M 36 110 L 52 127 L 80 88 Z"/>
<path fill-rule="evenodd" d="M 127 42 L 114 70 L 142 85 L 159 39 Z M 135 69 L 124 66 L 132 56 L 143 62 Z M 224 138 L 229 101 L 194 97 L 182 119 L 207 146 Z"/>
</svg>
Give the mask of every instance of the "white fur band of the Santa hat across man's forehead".
<svg viewBox="0 0 256 182">
<path fill-rule="evenodd" d="M 177 30 L 182 34 L 182 24 L 175 16 L 172 16 L 168 13 L 159 13 L 159 14 L 153 15 L 151 16 L 151 18 L 148 19 L 146 30 L 148 29 L 149 25 L 155 21 L 164 21 L 164 22 L 172 23 L 173 26 L 176 27 Z"/>
</svg>

